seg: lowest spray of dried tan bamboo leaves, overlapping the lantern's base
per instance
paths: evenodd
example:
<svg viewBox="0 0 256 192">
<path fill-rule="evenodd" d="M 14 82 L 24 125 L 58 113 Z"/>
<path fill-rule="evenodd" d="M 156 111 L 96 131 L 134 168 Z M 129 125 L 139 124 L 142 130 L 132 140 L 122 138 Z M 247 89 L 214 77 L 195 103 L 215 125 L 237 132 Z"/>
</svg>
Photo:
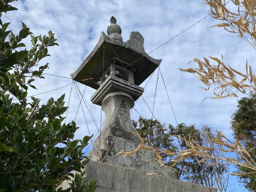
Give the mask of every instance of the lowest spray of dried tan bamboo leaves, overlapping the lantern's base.
<svg viewBox="0 0 256 192">
<path fill-rule="evenodd" d="M 206 132 L 204 132 L 204 134 L 207 135 Z M 227 137 L 223 133 L 220 132 L 220 135 L 222 138 L 227 139 Z M 176 152 L 172 152 L 170 150 L 160 150 L 160 149 L 155 148 L 154 146 L 148 146 L 148 145 L 140 143 L 138 148 L 135 149 L 134 151 L 124 151 L 123 150 L 116 155 L 130 156 L 136 152 L 140 152 L 141 150 L 153 150 L 156 155 L 156 158 L 154 160 L 155 160 L 155 162 L 160 163 L 161 166 L 165 166 L 164 162 L 161 158 L 161 154 L 163 154 L 165 152 L 168 155 L 177 156 L 176 159 L 170 159 L 171 162 L 175 162 L 175 163 L 177 163 L 181 160 L 186 160 L 186 159 L 189 160 L 190 158 L 193 158 L 193 159 L 197 160 L 198 163 L 205 163 L 208 166 L 219 166 L 219 165 L 221 165 L 221 163 L 225 164 L 225 162 L 226 162 L 226 163 L 234 163 L 236 165 L 244 166 L 246 168 L 256 171 L 255 163 L 254 164 L 240 163 L 237 159 L 227 158 L 226 156 L 221 155 L 220 151 L 222 151 L 222 152 L 234 152 L 235 151 L 236 154 L 240 156 L 240 158 L 244 159 L 245 157 L 243 154 L 246 154 L 246 155 L 249 154 L 243 148 L 243 146 L 240 144 L 240 142 L 237 138 L 236 138 L 236 143 L 232 143 L 229 139 L 227 139 L 229 141 L 229 143 L 232 143 L 232 145 L 227 142 L 224 142 L 223 140 L 221 140 L 219 138 L 213 140 L 213 142 L 216 142 L 219 145 L 224 145 L 227 148 L 230 148 L 230 150 L 229 149 L 227 150 L 227 149 L 223 149 L 223 148 L 213 148 L 214 145 L 213 145 L 213 143 L 211 143 L 211 139 L 208 135 L 207 135 L 207 140 L 209 142 L 209 145 L 213 146 L 213 147 L 200 146 L 198 143 L 196 143 L 196 141 L 187 140 L 184 136 L 180 137 L 180 136 L 175 135 L 175 137 L 183 140 L 186 143 L 188 148 L 184 149 L 184 150 L 175 149 Z M 212 151 L 214 154 L 217 153 L 218 156 L 212 156 L 213 155 Z M 250 156 L 248 156 L 248 157 L 250 158 Z M 245 160 L 247 160 L 247 159 L 245 158 Z M 174 165 L 175 165 L 175 163 L 174 163 Z M 250 174 L 250 173 L 242 173 L 242 174 Z M 253 173 L 255 173 L 255 172 L 253 172 Z M 156 174 L 156 173 L 148 173 L 148 175 L 153 175 L 153 174 Z M 240 173 L 229 173 L 229 174 L 240 175 Z"/>
</svg>

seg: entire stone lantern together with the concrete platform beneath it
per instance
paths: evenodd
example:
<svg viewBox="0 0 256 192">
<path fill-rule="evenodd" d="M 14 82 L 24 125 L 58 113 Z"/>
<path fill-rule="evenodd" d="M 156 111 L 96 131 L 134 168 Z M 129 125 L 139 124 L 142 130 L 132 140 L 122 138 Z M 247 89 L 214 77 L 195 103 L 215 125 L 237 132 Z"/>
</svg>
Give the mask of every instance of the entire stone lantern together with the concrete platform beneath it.
<svg viewBox="0 0 256 192">
<path fill-rule="evenodd" d="M 144 51 L 144 38 L 131 32 L 123 42 L 115 17 L 110 19 L 108 36 L 102 32 L 99 42 L 71 77 L 96 89 L 91 101 L 105 112 L 104 128 L 87 155 L 91 160 L 82 171 L 89 180 L 97 181 L 96 192 L 217 192 L 178 180 L 175 169 L 160 167 L 153 151 L 145 150 L 128 157 L 114 156 L 121 150 L 134 150 L 139 145 L 130 109 L 143 93 L 140 84 L 161 63 Z M 148 175 L 146 173 L 156 173 Z M 68 188 L 68 181 L 59 187 Z"/>
</svg>

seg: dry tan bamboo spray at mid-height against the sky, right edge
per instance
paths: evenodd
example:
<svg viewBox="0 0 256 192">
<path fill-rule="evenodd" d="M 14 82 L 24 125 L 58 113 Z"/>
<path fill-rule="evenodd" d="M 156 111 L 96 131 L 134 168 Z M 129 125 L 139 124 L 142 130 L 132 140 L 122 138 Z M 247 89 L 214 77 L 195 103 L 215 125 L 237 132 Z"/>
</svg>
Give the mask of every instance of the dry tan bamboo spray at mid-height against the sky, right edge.
<svg viewBox="0 0 256 192">
<path fill-rule="evenodd" d="M 198 64 L 197 68 L 179 70 L 196 74 L 198 79 L 206 85 L 206 87 L 201 87 L 206 91 L 210 90 L 211 86 L 214 86 L 213 92 L 215 97 L 210 98 L 222 99 L 224 97 L 237 97 L 237 92 L 243 94 L 256 92 L 256 78 L 253 74 L 252 66 L 247 61 L 245 67 L 246 74 L 243 74 L 230 67 L 229 64 L 226 66 L 223 63 L 223 56 L 221 56 L 221 59 L 210 57 L 217 64 L 210 64 L 207 58 L 203 58 L 204 61 L 199 59 L 191 60 Z"/>
</svg>

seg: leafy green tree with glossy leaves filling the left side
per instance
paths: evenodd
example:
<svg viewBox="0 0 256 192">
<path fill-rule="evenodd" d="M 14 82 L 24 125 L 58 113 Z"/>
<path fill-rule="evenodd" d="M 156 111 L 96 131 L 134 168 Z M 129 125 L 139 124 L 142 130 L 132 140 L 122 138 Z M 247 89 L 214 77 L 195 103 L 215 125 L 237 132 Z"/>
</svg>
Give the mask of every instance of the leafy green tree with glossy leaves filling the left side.
<svg viewBox="0 0 256 192">
<path fill-rule="evenodd" d="M 47 47 L 58 46 L 57 39 L 51 31 L 48 36 L 33 36 L 24 23 L 17 35 L 7 30 L 10 23 L 2 23 L 1 15 L 17 10 L 9 4 L 12 1 L 0 1 L 0 192 L 56 191 L 70 177 L 74 179 L 69 189 L 57 191 L 94 191 L 96 182 L 79 173 L 89 160 L 82 150 L 90 137 L 73 140 L 78 127 L 75 122 L 63 123 L 68 108 L 64 95 L 45 105 L 27 97 L 28 86 L 36 89 L 33 81 L 44 78 L 48 63 L 40 63 L 50 56 Z M 22 49 L 29 36 L 31 49 Z"/>
</svg>

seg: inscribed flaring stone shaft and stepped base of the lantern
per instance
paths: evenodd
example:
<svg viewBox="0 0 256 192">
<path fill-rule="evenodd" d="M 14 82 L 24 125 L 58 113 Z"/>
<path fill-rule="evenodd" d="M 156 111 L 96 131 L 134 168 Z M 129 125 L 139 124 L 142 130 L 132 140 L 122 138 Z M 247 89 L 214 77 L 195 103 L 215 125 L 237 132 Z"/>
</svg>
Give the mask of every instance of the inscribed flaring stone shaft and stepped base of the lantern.
<svg viewBox="0 0 256 192">
<path fill-rule="evenodd" d="M 151 150 L 143 150 L 129 157 L 114 157 L 121 150 L 135 150 L 139 145 L 139 139 L 131 133 L 138 134 L 130 118 L 130 109 L 133 105 L 132 97 L 121 91 L 108 93 L 102 99 L 102 110 L 105 112 L 104 128 L 101 136 L 93 142 L 94 150 L 87 155 L 88 158 L 178 179 L 175 169 L 163 168 L 153 162 L 155 154 Z"/>
</svg>

